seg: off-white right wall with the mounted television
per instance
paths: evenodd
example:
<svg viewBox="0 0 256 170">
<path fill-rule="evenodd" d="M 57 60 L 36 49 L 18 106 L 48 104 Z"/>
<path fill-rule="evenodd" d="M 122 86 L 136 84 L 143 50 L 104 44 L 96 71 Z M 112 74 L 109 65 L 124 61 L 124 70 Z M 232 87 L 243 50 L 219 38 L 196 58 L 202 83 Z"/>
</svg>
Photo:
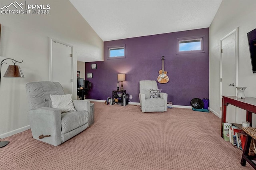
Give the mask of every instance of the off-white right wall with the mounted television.
<svg viewBox="0 0 256 170">
<path fill-rule="evenodd" d="M 210 109 L 220 114 L 220 39 L 238 27 L 238 85 L 247 87 L 245 95 L 256 97 L 256 74 L 252 73 L 247 33 L 256 28 L 255 0 L 223 0 L 210 25 Z M 246 112 L 237 109 L 237 123 L 246 119 Z M 254 121 L 255 122 L 255 121 Z"/>
</svg>

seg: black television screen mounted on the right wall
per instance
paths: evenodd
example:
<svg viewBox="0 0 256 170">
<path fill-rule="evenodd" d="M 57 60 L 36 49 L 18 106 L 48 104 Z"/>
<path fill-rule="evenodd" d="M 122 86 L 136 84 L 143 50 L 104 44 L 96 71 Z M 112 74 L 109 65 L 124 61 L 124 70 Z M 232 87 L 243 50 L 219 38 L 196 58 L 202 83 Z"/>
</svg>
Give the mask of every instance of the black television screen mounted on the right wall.
<svg viewBox="0 0 256 170">
<path fill-rule="evenodd" d="M 252 62 L 252 73 L 256 73 L 256 29 L 248 32 L 247 38 Z"/>
</svg>

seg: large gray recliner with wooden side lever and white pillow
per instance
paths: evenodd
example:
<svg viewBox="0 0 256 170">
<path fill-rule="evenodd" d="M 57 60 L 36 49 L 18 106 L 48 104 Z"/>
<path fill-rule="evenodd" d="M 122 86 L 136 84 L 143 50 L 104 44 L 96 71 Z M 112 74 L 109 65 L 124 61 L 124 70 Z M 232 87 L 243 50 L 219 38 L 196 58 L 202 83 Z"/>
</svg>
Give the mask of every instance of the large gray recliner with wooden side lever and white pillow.
<svg viewBox="0 0 256 170">
<path fill-rule="evenodd" d="M 76 111 L 66 113 L 52 108 L 50 95 L 64 95 L 59 82 L 27 83 L 26 91 L 30 107 L 28 119 L 34 139 L 58 146 L 89 127 L 90 101 L 74 100 Z"/>
</svg>

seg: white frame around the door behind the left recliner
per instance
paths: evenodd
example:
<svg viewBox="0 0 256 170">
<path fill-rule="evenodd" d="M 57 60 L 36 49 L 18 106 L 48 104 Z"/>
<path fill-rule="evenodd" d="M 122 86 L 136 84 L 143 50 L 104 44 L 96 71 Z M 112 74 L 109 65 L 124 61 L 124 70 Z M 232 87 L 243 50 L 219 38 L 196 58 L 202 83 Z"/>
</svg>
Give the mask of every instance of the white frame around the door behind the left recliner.
<svg viewBox="0 0 256 170">
<path fill-rule="evenodd" d="M 76 68 L 76 61 L 75 60 L 75 57 L 74 57 L 74 46 L 73 45 L 70 45 L 68 43 L 65 43 L 65 42 L 61 42 L 59 40 L 56 40 L 54 38 L 51 38 L 49 37 L 49 57 L 50 57 L 50 62 L 49 62 L 49 78 L 50 78 L 50 81 L 52 81 L 52 42 L 56 42 L 56 43 L 60 43 L 60 44 L 63 44 L 63 45 L 66 45 L 66 46 L 69 46 L 71 47 L 71 54 L 72 54 L 72 60 L 71 60 L 71 89 L 72 89 L 72 98 L 73 99 L 76 99 L 75 98 L 75 95 L 76 94 L 76 90 L 74 89 L 75 87 L 75 84 L 76 81 L 74 81 L 74 68 Z"/>
</svg>

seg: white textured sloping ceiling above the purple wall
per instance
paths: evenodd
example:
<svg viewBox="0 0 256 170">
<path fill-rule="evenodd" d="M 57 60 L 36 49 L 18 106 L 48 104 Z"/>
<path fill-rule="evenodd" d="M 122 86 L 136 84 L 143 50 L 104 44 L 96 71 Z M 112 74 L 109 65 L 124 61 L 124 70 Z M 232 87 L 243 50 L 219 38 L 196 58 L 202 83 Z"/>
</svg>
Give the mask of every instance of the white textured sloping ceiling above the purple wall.
<svg viewBox="0 0 256 170">
<path fill-rule="evenodd" d="M 103 41 L 208 28 L 222 0 L 70 0 Z"/>
</svg>

